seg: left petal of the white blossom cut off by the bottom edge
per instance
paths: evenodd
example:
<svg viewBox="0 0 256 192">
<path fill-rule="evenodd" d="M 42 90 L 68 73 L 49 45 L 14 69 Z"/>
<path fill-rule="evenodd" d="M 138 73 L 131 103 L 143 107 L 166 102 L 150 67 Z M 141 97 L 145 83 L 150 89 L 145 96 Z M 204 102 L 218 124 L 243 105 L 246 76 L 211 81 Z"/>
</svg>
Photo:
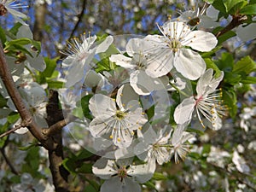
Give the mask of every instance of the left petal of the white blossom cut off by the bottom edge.
<svg viewBox="0 0 256 192">
<path fill-rule="evenodd" d="M 101 158 L 99 160 L 96 160 L 96 163 L 92 166 L 92 172 L 97 177 L 101 177 L 102 179 L 108 179 L 117 173 L 115 166 L 116 165 L 114 160 L 107 160 Z"/>
</svg>

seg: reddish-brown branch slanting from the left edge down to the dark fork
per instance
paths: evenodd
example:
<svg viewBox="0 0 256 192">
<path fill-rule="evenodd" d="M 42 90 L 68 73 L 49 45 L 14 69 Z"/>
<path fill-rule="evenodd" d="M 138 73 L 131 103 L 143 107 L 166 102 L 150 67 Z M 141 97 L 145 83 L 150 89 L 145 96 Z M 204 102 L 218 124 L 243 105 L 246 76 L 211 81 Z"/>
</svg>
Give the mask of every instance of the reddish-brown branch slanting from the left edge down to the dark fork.
<svg viewBox="0 0 256 192">
<path fill-rule="evenodd" d="M 12 76 L 9 72 L 9 68 L 7 62 L 5 60 L 5 56 L 3 54 L 2 42 L 0 41 L 0 76 L 3 80 L 3 84 L 6 87 L 6 90 L 9 93 L 9 96 L 12 98 L 15 103 L 15 107 L 20 113 L 20 117 L 24 122 L 29 122 L 28 129 L 31 131 L 32 135 L 38 139 L 39 142 L 44 142 L 44 137 L 41 131 L 39 130 L 38 125 L 32 119 L 32 114 L 26 108 L 25 104 L 22 102 L 22 98 L 20 96 L 19 91 L 16 88 L 15 82 L 12 79 Z"/>
</svg>

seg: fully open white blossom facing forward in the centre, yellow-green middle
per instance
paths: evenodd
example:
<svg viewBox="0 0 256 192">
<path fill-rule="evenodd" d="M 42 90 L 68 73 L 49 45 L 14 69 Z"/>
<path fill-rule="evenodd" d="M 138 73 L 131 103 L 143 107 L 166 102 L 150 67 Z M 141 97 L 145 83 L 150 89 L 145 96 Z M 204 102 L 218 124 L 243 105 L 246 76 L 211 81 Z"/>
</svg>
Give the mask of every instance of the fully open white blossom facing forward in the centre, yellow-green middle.
<svg viewBox="0 0 256 192">
<path fill-rule="evenodd" d="M 134 131 L 147 122 L 137 95 L 134 91 L 132 94 L 132 91 L 131 86 L 122 85 L 116 100 L 102 94 L 90 98 L 90 112 L 95 117 L 89 126 L 93 137 L 111 139 L 119 148 L 131 145 Z"/>
</svg>

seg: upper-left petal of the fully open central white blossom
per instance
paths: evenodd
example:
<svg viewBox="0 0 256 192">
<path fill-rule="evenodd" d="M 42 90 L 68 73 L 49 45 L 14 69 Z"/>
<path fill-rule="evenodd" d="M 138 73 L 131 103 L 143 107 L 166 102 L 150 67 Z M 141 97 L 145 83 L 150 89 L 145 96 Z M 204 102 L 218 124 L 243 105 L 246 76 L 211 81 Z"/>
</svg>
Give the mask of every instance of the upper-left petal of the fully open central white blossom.
<svg viewBox="0 0 256 192">
<path fill-rule="evenodd" d="M 102 94 L 96 94 L 90 98 L 89 109 L 93 116 L 99 118 L 102 116 L 111 117 L 116 113 L 113 99 Z"/>
</svg>

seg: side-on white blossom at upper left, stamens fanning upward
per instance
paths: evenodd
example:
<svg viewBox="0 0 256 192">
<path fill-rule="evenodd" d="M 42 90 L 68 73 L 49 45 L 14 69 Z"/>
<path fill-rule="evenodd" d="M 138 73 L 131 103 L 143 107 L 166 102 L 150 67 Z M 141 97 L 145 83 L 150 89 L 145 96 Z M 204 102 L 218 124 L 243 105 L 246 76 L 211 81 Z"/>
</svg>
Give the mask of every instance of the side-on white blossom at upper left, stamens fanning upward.
<svg viewBox="0 0 256 192">
<path fill-rule="evenodd" d="M 88 38 L 84 33 L 80 39 L 72 38 L 67 42 L 67 48 L 61 50 L 62 54 L 67 55 L 62 65 L 69 67 L 66 86 L 70 87 L 84 79 L 85 73 L 91 68 L 90 62 L 94 56 L 105 52 L 112 43 L 113 37 L 108 36 L 101 44 L 96 44 L 96 36 L 90 36 L 90 33 Z"/>
</svg>

